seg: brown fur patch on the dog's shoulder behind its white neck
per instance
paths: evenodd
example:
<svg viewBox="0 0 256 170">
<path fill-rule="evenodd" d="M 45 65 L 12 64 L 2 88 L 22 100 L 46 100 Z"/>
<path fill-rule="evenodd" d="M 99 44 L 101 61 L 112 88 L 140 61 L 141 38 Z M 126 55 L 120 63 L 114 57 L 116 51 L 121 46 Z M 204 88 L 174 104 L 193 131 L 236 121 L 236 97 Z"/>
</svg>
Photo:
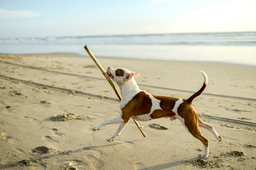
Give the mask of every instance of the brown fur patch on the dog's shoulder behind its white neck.
<svg viewBox="0 0 256 170">
<path fill-rule="evenodd" d="M 122 108 L 124 123 L 127 123 L 131 116 L 148 114 L 151 107 L 152 102 L 149 95 L 143 91 L 139 92 Z"/>
</svg>

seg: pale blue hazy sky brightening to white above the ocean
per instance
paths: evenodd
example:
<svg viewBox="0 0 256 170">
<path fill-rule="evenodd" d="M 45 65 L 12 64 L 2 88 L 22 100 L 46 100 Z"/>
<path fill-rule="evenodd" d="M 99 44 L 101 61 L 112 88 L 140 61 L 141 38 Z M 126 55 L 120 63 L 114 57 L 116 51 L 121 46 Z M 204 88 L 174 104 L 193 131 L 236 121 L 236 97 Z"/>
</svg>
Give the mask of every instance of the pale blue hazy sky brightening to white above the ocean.
<svg viewBox="0 0 256 170">
<path fill-rule="evenodd" d="M 255 0 L 0 0 L 0 38 L 236 31 Z"/>
</svg>

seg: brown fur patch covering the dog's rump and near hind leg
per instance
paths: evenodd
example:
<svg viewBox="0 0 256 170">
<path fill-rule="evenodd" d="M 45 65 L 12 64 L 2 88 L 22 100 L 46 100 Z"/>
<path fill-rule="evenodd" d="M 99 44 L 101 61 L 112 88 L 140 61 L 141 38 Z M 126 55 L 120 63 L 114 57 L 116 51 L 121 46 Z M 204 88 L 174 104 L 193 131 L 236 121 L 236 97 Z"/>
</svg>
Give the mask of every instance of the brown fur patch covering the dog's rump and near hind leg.
<svg viewBox="0 0 256 170">
<path fill-rule="evenodd" d="M 182 104 L 180 104 L 178 108 L 178 114 L 184 118 L 185 125 L 187 126 L 189 132 L 198 140 L 203 142 L 203 144 L 208 147 L 208 140 L 202 135 L 199 130 L 198 121 L 201 120 L 198 117 L 197 112 L 194 110 L 193 106 L 190 103 L 187 103 L 185 100 Z"/>
</svg>

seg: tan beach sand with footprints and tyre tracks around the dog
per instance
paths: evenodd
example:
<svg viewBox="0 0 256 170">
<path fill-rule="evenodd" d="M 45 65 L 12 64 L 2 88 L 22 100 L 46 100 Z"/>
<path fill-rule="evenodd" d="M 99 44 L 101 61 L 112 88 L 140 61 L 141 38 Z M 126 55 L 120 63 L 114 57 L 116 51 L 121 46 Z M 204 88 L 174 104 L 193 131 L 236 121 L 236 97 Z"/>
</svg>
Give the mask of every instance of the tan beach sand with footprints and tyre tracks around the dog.
<svg viewBox="0 0 256 170">
<path fill-rule="evenodd" d="M 178 121 L 130 122 L 91 128 L 119 113 L 115 92 L 91 58 L 75 54 L 0 55 L 0 169 L 254 169 L 256 168 L 256 67 L 205 62 L 97 57 L 103 67 L 140 71 L 139 87 L 153 95 L 188 98 L 207 130 L 203 145 Z M 116 84 L 115 84 L 116 85 Z M 118 89 L 119 90 L 119 89 Z"/>
</svg>

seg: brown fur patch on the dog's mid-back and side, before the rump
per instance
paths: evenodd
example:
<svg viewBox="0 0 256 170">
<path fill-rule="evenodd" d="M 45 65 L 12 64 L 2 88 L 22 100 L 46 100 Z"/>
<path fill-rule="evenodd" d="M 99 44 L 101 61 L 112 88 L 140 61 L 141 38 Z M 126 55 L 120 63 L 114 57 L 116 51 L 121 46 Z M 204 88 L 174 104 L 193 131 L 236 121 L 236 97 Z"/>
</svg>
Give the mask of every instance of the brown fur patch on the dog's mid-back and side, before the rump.
<svg viewBox="0 0 256 170">
<path fill-rule="evenodd" d="M 150 117 L 151 118 L 161 118 L 161 117 L 171 117 L 175 116 L 175 113 L 172 112 L 172 109 L 175 105 L 175 101 L 179 100 L 173 97 L 166 97 L 166 96 L 154 96 L 156 99 L 161 100 L 160 107 L 162 110 L 158 109 L 155 110 Z"/>
</svg>

